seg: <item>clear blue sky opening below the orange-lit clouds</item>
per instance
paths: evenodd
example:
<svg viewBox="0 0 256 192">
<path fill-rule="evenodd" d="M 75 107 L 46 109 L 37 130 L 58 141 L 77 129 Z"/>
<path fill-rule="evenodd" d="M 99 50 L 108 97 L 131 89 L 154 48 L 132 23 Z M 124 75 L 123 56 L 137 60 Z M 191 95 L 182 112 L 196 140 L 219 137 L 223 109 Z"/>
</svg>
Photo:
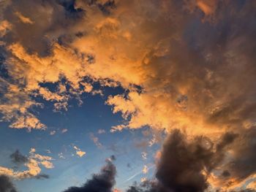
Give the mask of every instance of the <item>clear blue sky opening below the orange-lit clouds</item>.
<svg viewBox="0 0 256 192">
<path fill-rule="evenodd" d="M 49 86 L 48 86 L 49 87 Z M 91 174 L 99 172 L 105 164 L 105 158 L 116 155 L 117 177 L 116 187 L 127 188 L 135 180 L 141 177 L 151 177 L 154 167 L 146 175 L 138 174 L 143 165 L 154 163 L 154 153 L 159 145 L 141 148 L 135 147 L 135 143 L 143 141 L 142 130 L 124 130 L 110 133 L 111 126 L 116 126 L 124 120 L 121 114 L 113 114 L 111 107 L 105 104 L 109 95 L 123 93 L 121 88 L 105 88 L 104 96 L 91 96 L 83 94 L 83 104 L 78 106 L 78 101 L 73 99 L 69 102 L 67 112 L 53 112 L 53 104 L 37 100 L 44 104 L 42 109 L 35 109 L 37 117 L 48 126 L 46 131 L 8 128 L 8 123 L 0 123 L 0 166 L 12 168 L 14 164 L 10 161 L 10 154 L 16 149 L 24 155 L 29 154 L 31 147 L 36 148 L 37 153 L 50 155 L 54 158 L 53 169 L 42 168 L 43 174 L 49 174 L 47 180 L 28 179 L 15 181 L 20 192 L 45 192 L 63 191 L 72 185 L 82 185 Z M 67 128 L 67 132 L 61 134 L 61 130 Z M 97 134 L 99 129 L 105 129 L 105 134 Z M 50 136 L 50 131 L 56 134 Z M 99 137 L 103 148 L 97 147 L 90 139 L 90 134 Z M 75 155 L 73 146 L 86 151 L 86 155 L 79 158 Z M 46 152 L 50 150 L 50 154 Z M 143 160 L 141 153 L 148 153 L 148 158 Z M 59 158 L 62 153 L 65 159 Z M 129 164 L 129 166 L 127 166 Z M 135 177 L 132 177 L 134 176 Z M 132 177 L 131 180 L 128 180 Z"/>
</svg>

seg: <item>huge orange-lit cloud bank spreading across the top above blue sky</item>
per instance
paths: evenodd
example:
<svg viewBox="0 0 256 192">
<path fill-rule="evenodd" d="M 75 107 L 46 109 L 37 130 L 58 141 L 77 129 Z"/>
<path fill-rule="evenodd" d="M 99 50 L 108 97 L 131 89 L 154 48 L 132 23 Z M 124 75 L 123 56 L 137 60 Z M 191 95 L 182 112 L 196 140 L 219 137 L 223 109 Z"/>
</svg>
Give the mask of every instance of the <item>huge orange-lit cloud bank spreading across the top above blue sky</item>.
<svg viewBox="0 0 256 192">
<path fill-rule="evenodd" d="M 26 10 L 28 4 L 34 10 Z M 9 9 L 26 15 L 34 24 L 29 25 L 31 30 L 20 30 L 27 25 L 15 23 L 17 16 L 3 12 L 12 25 L 10 36 L 20 39 L 4 36 L 10 53 L 6 67 L 25 93 L 14 105 L 11 98 L 15 93 L 7 91 L 5 97 L 10 101 L 1 112 L 6 120 L 20 119 L 14 128 L 44 128 L 30 112 L 32 106 L 38 106 L 32 96 L 42 96 L 59 110 L 67 110 L 69 99 L 92 93 L 91 82 L 102 82 L 102 86 L 121 85 L 129 90 L 106 101 L 126 120 L 115 126 L 118 130 L 151 126 L 170 131 L 178 127 L 218 136 L 227 128 L 253 124 L 252 7 L 253 1 L 13 1 Z M 51 20 L 39 22 L 43 18 Z M 238 27 L 241 23 L 243 28 Z M 15 30 L 29 34 L 18 36 Z M 36 45 L 39 47 L 33 47 Z M 42 57 L 45 47 L 50 54 Z M 41 86 L 45 82 L 62 85 L 61 80 L 71 88 L 60 92 Z"/>
</svg>

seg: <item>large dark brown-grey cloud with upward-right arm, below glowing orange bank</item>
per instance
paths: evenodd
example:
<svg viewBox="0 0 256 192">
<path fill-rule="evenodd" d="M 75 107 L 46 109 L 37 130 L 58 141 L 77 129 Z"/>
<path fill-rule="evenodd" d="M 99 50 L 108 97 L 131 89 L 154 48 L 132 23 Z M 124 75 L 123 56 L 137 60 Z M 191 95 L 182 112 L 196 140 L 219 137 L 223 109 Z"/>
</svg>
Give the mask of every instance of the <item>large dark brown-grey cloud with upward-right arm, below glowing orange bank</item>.
<svg viewBox="0 0 256 192">
<path fill-rule="evenodd" d="M 224 149 L 233 142 L 233 134 L 225 134 L 217 150 L 206 137 L 189 141 L 185 134 L 175 130 L 167 138 L 156 177 L 165 188 L 173 191 L 200 192 L 208 188 L 206 173 L 211 172 L 224 158 Z"/>
</svg>

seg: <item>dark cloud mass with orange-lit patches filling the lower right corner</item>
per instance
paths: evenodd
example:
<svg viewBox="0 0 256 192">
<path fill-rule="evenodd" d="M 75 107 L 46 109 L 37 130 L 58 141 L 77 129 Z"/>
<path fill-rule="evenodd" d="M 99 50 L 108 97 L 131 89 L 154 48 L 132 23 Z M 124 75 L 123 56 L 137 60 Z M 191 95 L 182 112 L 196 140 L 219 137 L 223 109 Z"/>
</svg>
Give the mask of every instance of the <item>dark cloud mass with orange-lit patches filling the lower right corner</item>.
<svg viewBox="0 0 256 192">
<path fill-rule="evenodd" d="M 128 191 L 199 192 L 236 191 L 236 188 L 243 188 L 245 183 L 255 180 L 255 163 L 252 163 L 254 157 L 244 155 L 243 161 L 250 163 L 236 166 L 243 159 L 236 156 L 241 153 L 238 146 L 243 146 L 244 151 L 254 146 L 251 142 L 247 146 L 241 142 L 244 134 L 247 133 L 226 133 L 214 144 L 207 137 L 187 137 L 181 131 L 173 130 L 162 147 L 162 155 L 157 164 L 157 180 L 131 186 Z M 250 135 L 254 137 L 252 133 Z M 223 176 L 223 170 L 228 170 L 229 174 Z M 213 174 L 219 185 L 214 185 L 217 183 L 211 178 Z"/>
</svg>

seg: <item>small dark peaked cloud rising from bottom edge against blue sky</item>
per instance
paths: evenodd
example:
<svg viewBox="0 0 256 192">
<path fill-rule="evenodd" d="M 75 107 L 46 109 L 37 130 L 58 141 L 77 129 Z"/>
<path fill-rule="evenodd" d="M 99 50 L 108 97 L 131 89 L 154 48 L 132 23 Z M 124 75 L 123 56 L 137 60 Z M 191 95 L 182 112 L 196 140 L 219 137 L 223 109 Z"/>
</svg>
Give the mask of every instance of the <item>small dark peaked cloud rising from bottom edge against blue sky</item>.
<svg viewBox="0 0 256 192">
<path fill-rule="evenodd" d="M 115 185 L 116 166 L 110 161 L 102 167 L 99 174 L 94 174 L 91 180 L 81 187 L 71 187 L 64 192 L 111 192 Z"/>
</svg>

